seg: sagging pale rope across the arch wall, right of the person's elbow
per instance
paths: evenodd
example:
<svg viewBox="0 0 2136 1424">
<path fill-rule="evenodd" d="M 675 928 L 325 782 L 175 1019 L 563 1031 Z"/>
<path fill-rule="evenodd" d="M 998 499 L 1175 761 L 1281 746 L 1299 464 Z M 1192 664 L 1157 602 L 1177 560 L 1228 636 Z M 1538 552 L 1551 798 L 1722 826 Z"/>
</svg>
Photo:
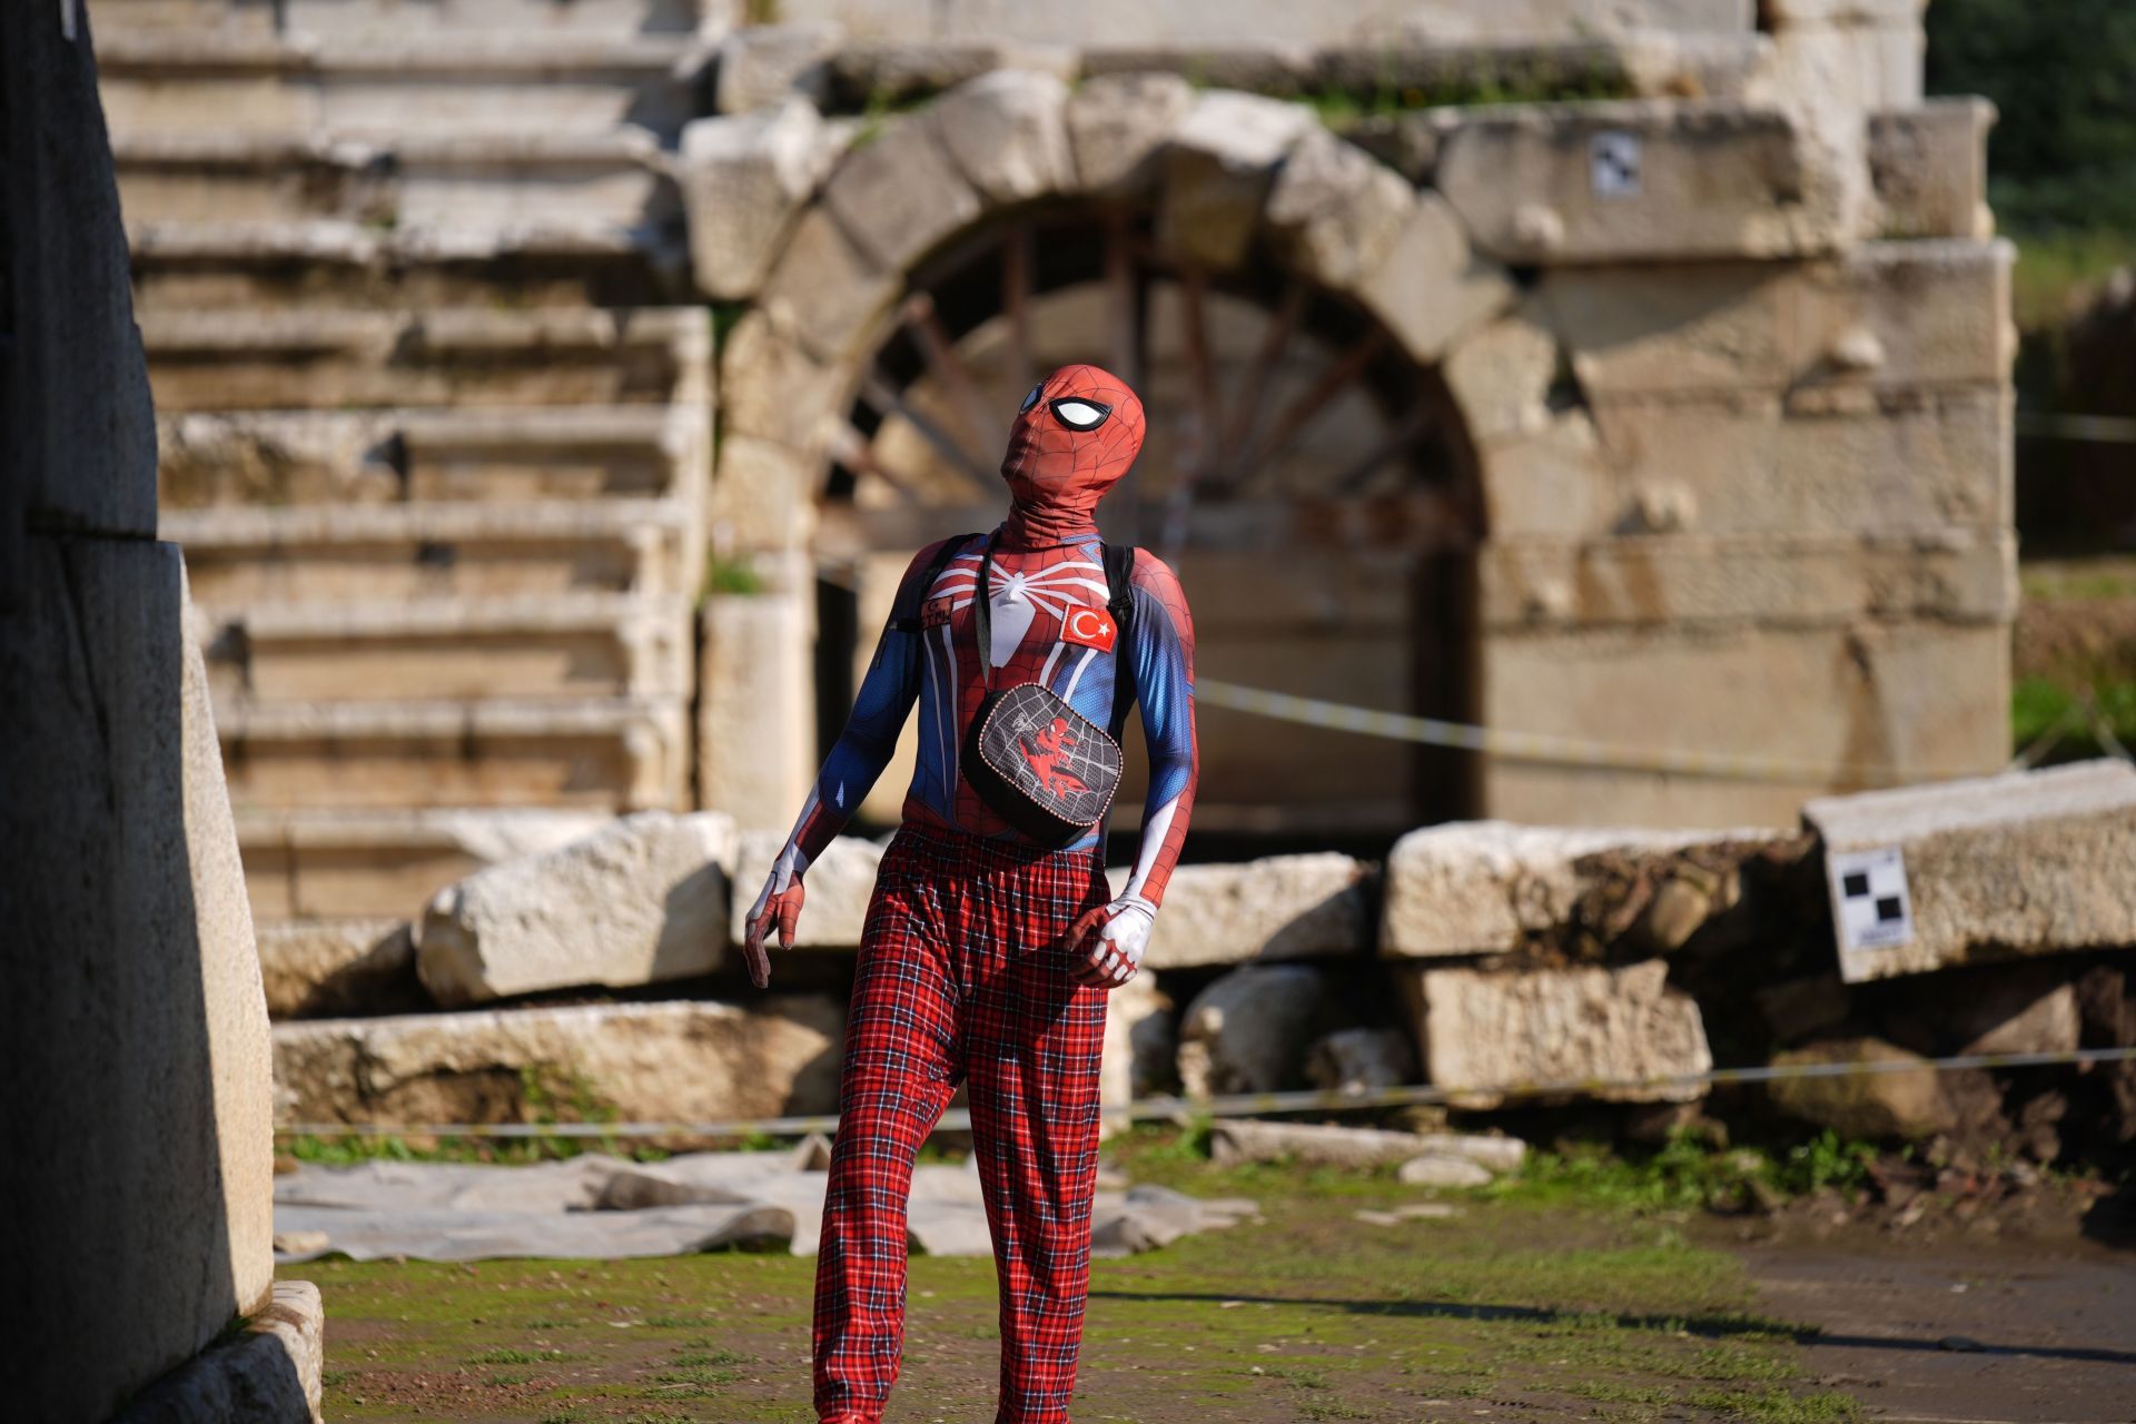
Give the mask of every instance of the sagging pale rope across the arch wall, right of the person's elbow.
<svg viewBox="0 0 2136 1424">
<path fill-rule="evenodd" d="M 1679 777 L 1771 781 L 1784 786 L 1826 786 L 1839 777 L 1873 786 L 1905 786 L 1912 781 L 1948 781 L 1980 775 L 1978 766 L 1963 771 L 1933 766 L 1856 766 L 1848 762 L 1801 762 L 1777 756 L 1739 756 L 1728 751 L 1655 751 L 1647 747 L 1587 741 L 1581 737 L 1508 732 L 1465 722 L 1414 717 L 1408 713 L 1350 707 L 1346 702 L 1326 702 L 1322 698 L 1301 698 L 1290 692 L 1241 687 L 1237 683 L 1215 679 L 1196 679 L 1194 700 L 1207 707 L 1271 717 L 1275 722 L 1294 722 L 1299 726 L 1316 726 L 1333 732 L 1356 732 L 1358 737 L 1412 741 L 1427 747 L 1452 747 L 1457 751 L 1489 751 L 1491 756 L 1502 756 L 1506 760 L 1538 762 L 1546 766 L 1647 771 Z"/>
</svg>

